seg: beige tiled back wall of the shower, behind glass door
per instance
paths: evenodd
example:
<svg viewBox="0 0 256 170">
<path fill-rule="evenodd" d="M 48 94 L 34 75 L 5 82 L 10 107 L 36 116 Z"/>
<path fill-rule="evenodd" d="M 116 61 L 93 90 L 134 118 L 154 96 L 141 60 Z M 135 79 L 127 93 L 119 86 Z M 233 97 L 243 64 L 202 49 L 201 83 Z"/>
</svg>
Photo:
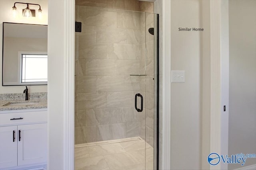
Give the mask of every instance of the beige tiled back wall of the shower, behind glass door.
<svg viewBox="0 0 256 170">
<path fill-rule="evenodd" d="M 146 92 L 146 80 L 130 76 L 140 74 L 145 69 L 140 63 L 147 61 L 141 43 L 145 13 L 95 8 L 104 7 L 98 2 L 78 1 L 94 7 L 76 6 L 82 32 L 76 33 L 75 142 L 145 139 L 145 109 L 134 109 L 134 96 L 143 86 Z"/>
</svg>

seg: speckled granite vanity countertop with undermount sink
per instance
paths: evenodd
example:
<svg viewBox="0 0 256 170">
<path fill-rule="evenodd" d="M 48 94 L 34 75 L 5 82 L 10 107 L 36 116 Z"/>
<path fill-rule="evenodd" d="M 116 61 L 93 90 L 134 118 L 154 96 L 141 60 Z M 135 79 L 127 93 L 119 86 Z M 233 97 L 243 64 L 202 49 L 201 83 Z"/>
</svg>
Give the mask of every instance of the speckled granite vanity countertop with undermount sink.
<svg viewBox="0 0 256 170">
<path fill-rule="evenodd" d="M 42 108 L 47 108 L 47 99 L 0 101 L 0 111 Z"/>
</svg>

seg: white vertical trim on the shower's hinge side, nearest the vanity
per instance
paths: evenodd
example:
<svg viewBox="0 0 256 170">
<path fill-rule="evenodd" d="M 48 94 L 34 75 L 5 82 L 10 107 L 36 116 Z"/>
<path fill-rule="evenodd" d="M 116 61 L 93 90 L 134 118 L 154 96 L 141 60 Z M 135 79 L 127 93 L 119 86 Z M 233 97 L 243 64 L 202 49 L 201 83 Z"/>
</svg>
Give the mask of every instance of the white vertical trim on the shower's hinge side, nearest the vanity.
<svg viewBox="0 0 256 170">
<path fill-rule="evenodd" d="M 75 101 L 75 86 L 74 86 L 74 75 L 75 75 L 75 1 L 65 0 L 65 46 L 66 46 L 66 98 L 65 98 L 65 113 L 66 116 L 64 127 L 66 136 L 66 170 L 73 170 L 74 167 L 74 101 Z"/>
</svg>

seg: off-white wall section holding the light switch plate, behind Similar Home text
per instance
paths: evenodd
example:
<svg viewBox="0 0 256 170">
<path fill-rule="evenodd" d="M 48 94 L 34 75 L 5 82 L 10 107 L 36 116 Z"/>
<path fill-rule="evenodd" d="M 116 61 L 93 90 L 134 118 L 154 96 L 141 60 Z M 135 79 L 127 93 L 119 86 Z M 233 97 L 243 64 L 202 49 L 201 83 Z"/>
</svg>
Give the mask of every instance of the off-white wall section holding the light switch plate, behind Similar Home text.
<svg viewBox="0 0 256 170">
<path fill-rule="evenodd" d="M 200 79 L 202 33 L 178 31 L 202 28 L 202 1 L 171 1 L 171 68 L 185 70 L 185 83 L 171 88 L 171 168 L 200 169 Z"/>
</svg>

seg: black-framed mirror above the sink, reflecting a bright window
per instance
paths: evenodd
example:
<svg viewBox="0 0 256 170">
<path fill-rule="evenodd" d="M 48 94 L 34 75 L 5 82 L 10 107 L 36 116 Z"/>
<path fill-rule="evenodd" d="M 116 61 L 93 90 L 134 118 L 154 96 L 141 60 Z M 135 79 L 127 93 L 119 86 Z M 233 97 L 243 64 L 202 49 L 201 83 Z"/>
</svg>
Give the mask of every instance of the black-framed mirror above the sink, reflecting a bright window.
<svg viewBox="0 0 256 170">
<path fill-rule="evenodd" d="M 47 84 L 47 25 L 3 22 L 2 86 Z"/>
</svg>

